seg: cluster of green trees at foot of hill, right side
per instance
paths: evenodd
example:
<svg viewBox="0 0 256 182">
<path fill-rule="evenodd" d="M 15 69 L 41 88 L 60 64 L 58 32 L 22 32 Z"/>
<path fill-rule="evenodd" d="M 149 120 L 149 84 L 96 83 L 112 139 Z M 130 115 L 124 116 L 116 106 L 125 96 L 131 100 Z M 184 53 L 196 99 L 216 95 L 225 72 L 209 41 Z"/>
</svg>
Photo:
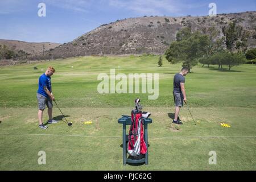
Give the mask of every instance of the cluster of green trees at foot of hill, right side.
<svg viewBox="0 0 256 182">
<path fill-rule="evenodd" d="M 232 67 L 246 63 L 246 58 L 255 59 L 255 49 L 247 51 L 251 34 L 236 21 L 222 27 L 223 36 L 219 37 L 219 34 L 214 26 L 205 32 L 192 32 L 190 27 L 185 27 L 177 32 L 176 41 L 170 44 L 164 55 L 172 64 L 182 62 L 189 72 L 197 63 L 208 67 L 218 65 L 218 69 L 228 65 L 230 71 Z"/>
</svg>

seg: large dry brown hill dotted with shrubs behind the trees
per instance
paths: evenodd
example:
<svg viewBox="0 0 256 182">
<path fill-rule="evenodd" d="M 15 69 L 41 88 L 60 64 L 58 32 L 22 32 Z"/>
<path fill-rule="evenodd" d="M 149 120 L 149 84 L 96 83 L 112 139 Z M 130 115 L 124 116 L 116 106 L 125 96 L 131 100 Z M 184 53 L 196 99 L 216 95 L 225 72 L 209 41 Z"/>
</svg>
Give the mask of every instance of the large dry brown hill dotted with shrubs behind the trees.
<svg viewBox="0 0 256 182">
<path fill-rule="evenodd" d="M 249 47 L 256 47 L 256 11 L 252 11 L 218 14 L 215 17 L 144 16 L 117 20 L 47 51 L 46 56 L 56 59 L 83 55 L 160 54 L 164 53 L 175 40 L 177 31 L 183 27 L 189 26 L 192 31 L 199 30 L 207 34 L 208 28 L 215 26 L 219 36 L 223 36 L 222 27 L 233 20 L 250 31 Z"/>
</svg>

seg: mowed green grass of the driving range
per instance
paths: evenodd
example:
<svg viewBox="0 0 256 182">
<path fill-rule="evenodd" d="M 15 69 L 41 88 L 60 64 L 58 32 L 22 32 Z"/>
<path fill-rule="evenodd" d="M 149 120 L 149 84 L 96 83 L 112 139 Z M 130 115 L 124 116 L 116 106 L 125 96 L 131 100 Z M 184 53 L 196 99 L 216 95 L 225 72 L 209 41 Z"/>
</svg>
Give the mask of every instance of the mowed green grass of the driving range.
<svg viewBox="0 0 256 182">
<path fill-rule="evenodd" d="M 256 66 L 244 64 L 230 72 L 217 66 L 193 68 L 185 89 L 197 125 L 183 107 L 184 124 L 177 126 L 171 119 L 172 82 L 181 64 L 163 59 L 158 67 L 157 61 L 158 56 L 76 57 L 0 67 L 0 170 L 255 170 Z M 38 127 L 38 78 L 48 65 L 56 69 L 53 94 L 71 127 L 64 122 L 47 130 Z M 126 75 L 159 73 L 158 99 L 138 93 L 99 94 L 97 76 L 110 76 L 110 69 Z M 130 114 L 137 97 L 153 119 L 148 126 L 149 164 L 123 166 L 117 119 Z M 62 118 L 57 107 L 53 116 Z M 47 110 L 43 119 L 48 119 Z M 221 127 L 221 122 L 231 127 Z M 46 152 L 46 165 L 38 164 L 39 151 Z M 216 151 L 216 165 L 208 162 L 210 151 Z"/>
</svg>

